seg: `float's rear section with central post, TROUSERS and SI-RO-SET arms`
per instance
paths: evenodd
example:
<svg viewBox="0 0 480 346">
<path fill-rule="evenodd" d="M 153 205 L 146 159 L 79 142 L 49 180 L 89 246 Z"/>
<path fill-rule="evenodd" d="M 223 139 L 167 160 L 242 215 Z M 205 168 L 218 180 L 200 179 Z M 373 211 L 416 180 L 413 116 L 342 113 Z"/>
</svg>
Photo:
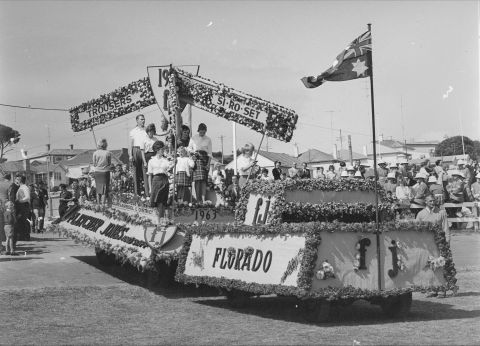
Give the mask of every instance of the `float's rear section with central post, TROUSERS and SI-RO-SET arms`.
<svg viewBox="0 0 480 346">
<path fill-rule="evenodd" d="M 189 68 L 192 72 L 187 72 Z M 73 131 L 93 132 L 98 125 L 132 112 L 139 114 L 157 104 L 162 116 L 168 118 L 171 135 L 180 135 L 186 105 L 247 126 L 263 136 L 289 141 L 293 135 L 298 118 L 293 110 L 200 77 L 198 66 L 149 66 L 147 71 L 148 78 L 72 108 Z M 172 149 L 176 153 L 176 143 Z M 175 159 L 170 154 L 169 160 Z M 128 263 L 141 271 L 155 272 L 169 283 L 185 242 L 185 229 L 235 221 L 233 207 L 221 203 L 222 196 L 217 196 L 214 204 L 176 204 L 174 175 L 172 171 L 170 217 L 161 224 L 157 224 L 156 210 L 148 206 L 145 196 L 117 192 L 111 194 L 108 205 L 87 202 L 70 208 L 52 224 L 52 231 L 93 246 L 102 265 Z"/>
</svg>

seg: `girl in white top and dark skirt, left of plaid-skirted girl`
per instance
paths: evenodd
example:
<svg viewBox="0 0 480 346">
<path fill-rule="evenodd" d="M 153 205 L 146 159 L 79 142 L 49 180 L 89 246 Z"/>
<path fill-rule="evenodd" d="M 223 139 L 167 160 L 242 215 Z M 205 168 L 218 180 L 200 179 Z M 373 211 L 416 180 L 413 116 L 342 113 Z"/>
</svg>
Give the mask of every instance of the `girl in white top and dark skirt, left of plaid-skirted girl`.
<svg viewBox="0 0 480 346">
<path fill-rule="evenodd" d="M 172 168 L 170 162 L 163 156 L 165 144 L 156 141 L 153 144 L 155 156 L 148 161 L 148 183 L 152 187 L 150 194 L 150 206 L 157 208 L 158 223 L 165 216 L 168 201 L 169 182 L 168 171 Z"/>
</svg>

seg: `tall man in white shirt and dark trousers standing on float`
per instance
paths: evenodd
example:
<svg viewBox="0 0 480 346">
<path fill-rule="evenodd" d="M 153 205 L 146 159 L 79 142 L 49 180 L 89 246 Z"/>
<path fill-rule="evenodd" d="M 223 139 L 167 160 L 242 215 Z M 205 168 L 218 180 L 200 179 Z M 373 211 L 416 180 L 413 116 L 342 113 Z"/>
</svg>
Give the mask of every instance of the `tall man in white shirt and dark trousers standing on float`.
<svg viewBox="0 0 480 346">
<path fill-rule="evenodd" d="M 147 132 L 145 132 L 145 116 L 143 114 L 137 115 L 137 126 L 130 131 L 130 162 L 135 167 L 135 192 L 137 195 L 141 195 L 143 190 L 143 184 L 146 179 L 145 169 L 143 167 L 142 147 L 145 140 L 148 138 Z"/>
</svg>

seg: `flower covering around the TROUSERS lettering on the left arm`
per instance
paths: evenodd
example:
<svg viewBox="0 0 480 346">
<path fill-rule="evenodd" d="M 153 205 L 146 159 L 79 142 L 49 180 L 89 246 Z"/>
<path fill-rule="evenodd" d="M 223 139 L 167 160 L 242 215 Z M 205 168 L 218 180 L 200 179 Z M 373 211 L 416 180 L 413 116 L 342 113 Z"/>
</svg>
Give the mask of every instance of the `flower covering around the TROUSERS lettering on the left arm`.
<svg viewBox="0 0 480 346">
<path fill-rule="evenodd" d="M 140 93 L 139 101 L 122 106 L 125 103 L 125 98 L 136 93 Z M 150 86 L 150 80 L 143 78 L 130 83 L 126 87 L 118 88 L 109 94 L 101 95 L 100 98 L 84 102 L 80 106 L 70 109 L 70 122 L 73 131 L 79 132 L 153 104 L 155 104 L 155 96 Z M 87 120 L 80 121 L 79 113 L 88 112 L 92 109 L 108 111 L 97 116 L 89 117 Z"/>
</svg>

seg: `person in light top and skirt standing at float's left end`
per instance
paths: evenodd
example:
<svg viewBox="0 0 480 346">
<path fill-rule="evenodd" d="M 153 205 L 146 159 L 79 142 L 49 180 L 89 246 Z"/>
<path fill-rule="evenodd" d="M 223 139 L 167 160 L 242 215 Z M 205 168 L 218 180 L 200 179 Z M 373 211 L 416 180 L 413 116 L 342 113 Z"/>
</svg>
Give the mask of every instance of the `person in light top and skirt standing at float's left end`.
<svg viewBox="0 0 480 346">
<path fill-rule="evenodd" d="M 107 150 L 107 146 L 107 140 L 102 138 L 98 141 L 97 151 L 93 153 L 93 174 L 95 176 L 95 188 L 97 190 L 97 203 L 99 204 L 106 204 L 110 192 L 112 153 Z"/>
</svg>

